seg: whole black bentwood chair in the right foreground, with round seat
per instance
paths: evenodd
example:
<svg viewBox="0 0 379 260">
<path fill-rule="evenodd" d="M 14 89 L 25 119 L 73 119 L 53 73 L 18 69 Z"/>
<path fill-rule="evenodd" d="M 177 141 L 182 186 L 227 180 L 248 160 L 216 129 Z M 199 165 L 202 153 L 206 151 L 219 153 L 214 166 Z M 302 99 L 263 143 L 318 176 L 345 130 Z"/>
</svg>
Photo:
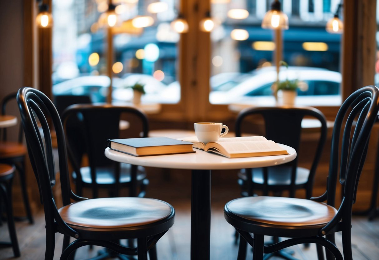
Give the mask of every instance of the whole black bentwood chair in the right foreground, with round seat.
<svg viewBox="0 0 379 260">
<path fill-rule="evenodd" d="M 242 197 L 225 205 L 225 219 L 244 238 L 240 241 L 239 260 L 246 257 L 243 252 L 246 241 L 253 247 L 254 260 L 301 243 L 316 243 L 319 259 L 324 259 L 323 247 L 327 249 L 327 259 L 352 259 L 352 205 L 378 110 L 379 89 L 376 86 L 357 90 L 341 105 L 332 133 L 329 175 L 323 195 L 311 199 Z M 337 181 L 343 192 L 338 210 L 335 208 Z M 335 245 L 335 232 L 342 235 L 343 257 Z M 265 246 L 266 235 L 289 239 Z"/>
</svg>

